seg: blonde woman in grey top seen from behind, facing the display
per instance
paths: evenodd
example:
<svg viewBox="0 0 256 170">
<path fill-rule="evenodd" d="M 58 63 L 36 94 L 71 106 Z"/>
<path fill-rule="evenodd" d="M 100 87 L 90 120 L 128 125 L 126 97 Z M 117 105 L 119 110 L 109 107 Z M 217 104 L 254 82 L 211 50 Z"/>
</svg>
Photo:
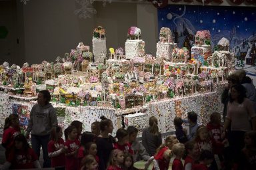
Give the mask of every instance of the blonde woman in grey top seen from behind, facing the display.
<svg viewBox="0 0 256 170">
<path fill-rule="evenodd" d="M 149 118 L 149 127 L 143 129 L 142 144 L 150 156 L 155 155 L 157 148 L 162 144 L 162 136 L 157 126 L 155 116 Z"/>
</svg>

